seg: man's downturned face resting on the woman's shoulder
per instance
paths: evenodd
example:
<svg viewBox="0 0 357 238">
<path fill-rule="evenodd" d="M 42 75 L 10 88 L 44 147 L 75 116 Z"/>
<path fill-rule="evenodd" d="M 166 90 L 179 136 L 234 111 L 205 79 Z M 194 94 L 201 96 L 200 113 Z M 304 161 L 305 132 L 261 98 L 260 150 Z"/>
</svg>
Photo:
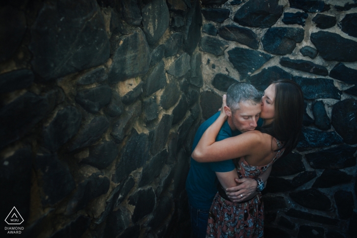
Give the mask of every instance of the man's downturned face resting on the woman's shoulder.
<svg viewBox="0 0 357 238">
<path fill-rule="evenodd" d="M 241 133 L 253 130 L 257 127 L 260 112 L 260 103 L 240 102 L 239 109 L 232 112 L 232 123 Z"/>
</svg>

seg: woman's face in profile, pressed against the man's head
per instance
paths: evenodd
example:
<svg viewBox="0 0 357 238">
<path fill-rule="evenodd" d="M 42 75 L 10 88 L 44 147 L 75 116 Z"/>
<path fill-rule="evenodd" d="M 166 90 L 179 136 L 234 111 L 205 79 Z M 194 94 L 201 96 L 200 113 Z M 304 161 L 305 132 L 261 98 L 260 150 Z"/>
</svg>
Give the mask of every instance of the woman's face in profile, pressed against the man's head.
<svg viewBox="0 0 357 238">
<path fill-rule="evenodd" d="M 275 84 L 269 85 L 264 91 L 262 97 L 262 112 L 260 117 L 264 119 L 265 124 L 269 124 L 274 120 L 274 101 L 275 101 Z"/>
</svg>

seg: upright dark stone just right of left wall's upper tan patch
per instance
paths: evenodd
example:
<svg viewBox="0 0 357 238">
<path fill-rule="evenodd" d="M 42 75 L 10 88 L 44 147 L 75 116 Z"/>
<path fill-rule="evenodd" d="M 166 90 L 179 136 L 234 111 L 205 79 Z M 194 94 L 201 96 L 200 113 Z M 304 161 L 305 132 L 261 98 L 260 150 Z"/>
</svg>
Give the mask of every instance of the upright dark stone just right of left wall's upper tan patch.
<svg viewBox="0 0 357 238">
<path fill-rule="evenodd" d="M 154 69 L 149 73 L 146 79 L 145 91 L 146 95 L 151 95 L 166 85 L 165 63 L 160 61 Z"/>
</svg>

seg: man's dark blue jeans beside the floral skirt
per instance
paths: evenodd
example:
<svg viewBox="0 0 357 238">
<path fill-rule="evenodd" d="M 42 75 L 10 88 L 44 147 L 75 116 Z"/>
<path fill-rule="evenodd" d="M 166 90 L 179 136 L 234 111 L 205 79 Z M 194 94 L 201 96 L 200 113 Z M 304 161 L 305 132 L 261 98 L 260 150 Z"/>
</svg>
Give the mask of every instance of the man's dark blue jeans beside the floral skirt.
<svg viewBox="0 0 357 238">
<path fill-rule="evenodd" d="M 193 238 L 205 238 L 207 233 L 208 213 L 210 209 L 197 209 L 189 203 L 191 217 L 191 236 Z"/>
</svg>

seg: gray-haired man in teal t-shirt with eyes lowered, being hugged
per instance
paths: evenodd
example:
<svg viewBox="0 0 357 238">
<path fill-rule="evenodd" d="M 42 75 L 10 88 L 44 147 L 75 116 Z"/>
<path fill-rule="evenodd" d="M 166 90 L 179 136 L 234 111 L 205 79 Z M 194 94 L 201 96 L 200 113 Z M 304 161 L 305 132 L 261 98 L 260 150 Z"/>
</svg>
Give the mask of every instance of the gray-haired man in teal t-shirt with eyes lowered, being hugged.
<svg viewBox="0 0 357 238">
<path fill-rule="evenodd" d="M 228 137 L 238 136 L 248 130 L 253 130 L 262 125 L 259 120 L 261 112 L 261 94 L 256 88 L 247 83 L 236 83 L 227 90 L 227 106 L 224 111 L 228 116 L 227 121 L 221 127 L 216 141 Z M 205 130 L 218 118 L 219 112 L 203 122 L 195 135 L 192 151 L 195 149 L 199 139 Z M 232 160 L 197 163 L 191 157 L 190 171 L 186 180 L 186 191 L 189 198 L 189 209 L 191 215 L 191 227 L 193 237 L 206 237 L 208 213 L 214 196 L 217 193 L 217 177 L 220 172 L 228 172 L 235 169 Z M 239 186 L 229 188 L 233 193 L 232 201 L 241 202 L 255 196 L 256 191 L 264 188 L 264 183 L 270 174 L 270 170 L 254 180 L 243 178 L 236 180 Z M 258 189 L 258 190 L 257 190 Z M 242 199 L 244 194 L 244 199 Z"/>
</svg>

